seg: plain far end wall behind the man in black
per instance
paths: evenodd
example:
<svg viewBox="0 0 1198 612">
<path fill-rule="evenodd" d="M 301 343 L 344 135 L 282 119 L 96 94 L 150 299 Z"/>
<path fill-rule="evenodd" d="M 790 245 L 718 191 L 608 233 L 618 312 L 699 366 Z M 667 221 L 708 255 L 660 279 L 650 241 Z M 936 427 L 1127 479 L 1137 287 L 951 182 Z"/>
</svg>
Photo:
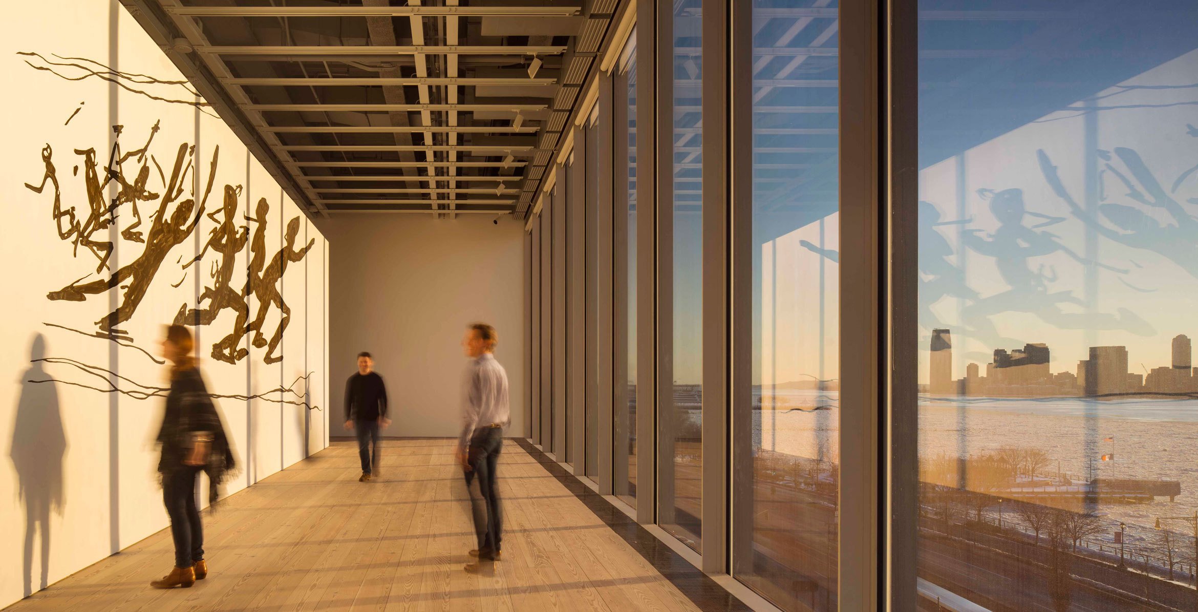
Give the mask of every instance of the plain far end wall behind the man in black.
<svg viewBox="0 0 1198 612">
<path fill-rule="evenodd" d="M 508 371 L 512 426 L 524 431 L 524 232 L 509 218 L 364 213 L 320 219 L 329 256 L 331 434 L 344 429 L 345 381 L 362 351 L 387 383 L 388 436 L 456 436 L 461 338 L 466 326 L 495 326 L 496 358 Z"/>
</svg>

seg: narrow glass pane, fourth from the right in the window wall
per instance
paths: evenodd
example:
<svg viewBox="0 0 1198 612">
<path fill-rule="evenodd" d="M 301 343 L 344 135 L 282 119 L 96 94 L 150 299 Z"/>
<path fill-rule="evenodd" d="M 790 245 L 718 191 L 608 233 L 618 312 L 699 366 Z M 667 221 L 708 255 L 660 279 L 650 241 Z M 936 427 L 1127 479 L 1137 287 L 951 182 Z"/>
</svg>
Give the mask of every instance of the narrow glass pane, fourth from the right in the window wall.
<svg viewBox="0 0 1198 612">
<path fill-rule="evenodd" d="M 617 329 L 617 334 L 623 334 L 624 343 L 624 401 L 616 405 L 616 471 L 615 489 L 616 495 L 625 502 L 636 504 L 636 48 L 634 44 L 635 32 L 628 42 L 625 55 L 629 57 L 625 69 L 617 79 L 616 104 L 617 116 L 622 117 L 623 132 L 618 140 L 616 154 L 624 157 L 622 164 L 624 176 L 618 176 L 625 186 L 624 208 L 616 214 L 623 219 L 623 278 L 616 281 L 619 285 L 618 296 L 623 308 L 624 326 Z M 617 298 L 619 299 L 619 298 Z M 619 380 L 616 381 L 621 383 Z"/>
</svg>

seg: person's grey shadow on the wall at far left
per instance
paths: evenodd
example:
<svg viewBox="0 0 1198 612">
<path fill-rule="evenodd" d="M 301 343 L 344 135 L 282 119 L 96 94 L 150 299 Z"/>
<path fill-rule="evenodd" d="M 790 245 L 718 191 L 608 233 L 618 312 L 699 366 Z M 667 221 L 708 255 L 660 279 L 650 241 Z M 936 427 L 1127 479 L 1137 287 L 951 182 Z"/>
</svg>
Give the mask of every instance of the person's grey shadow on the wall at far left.
<svg viewBox="0 0 1198 612">
<path fill-rule="evenodd" d="M 62 490 L 62 459 L 67 440 L 62 431 L 59 390 L 42 368 L 46 338 L 36 334 L 30 345 L 30 368 L 20 375 L 20 398 L 17 419 L 12 428 L 13 468 L 17 471 L 17 498 L 25 502 L 25 565 L 22 575 L 25 596 L 34 593 L 34 533 L 42 538 L 42 582 L 46 588 L 50 574 L 50 510 L 62 514 L 66 496 Z"/>
</svg>

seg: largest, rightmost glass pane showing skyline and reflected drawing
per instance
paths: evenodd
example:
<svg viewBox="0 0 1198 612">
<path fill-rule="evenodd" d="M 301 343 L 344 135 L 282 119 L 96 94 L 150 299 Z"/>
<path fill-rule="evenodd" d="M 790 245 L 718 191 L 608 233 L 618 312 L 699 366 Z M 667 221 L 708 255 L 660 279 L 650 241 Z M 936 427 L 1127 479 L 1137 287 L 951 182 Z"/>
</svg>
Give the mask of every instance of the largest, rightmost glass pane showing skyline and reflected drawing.
<svg viewBox="0 0 1198 612">
<path fill-rule="evenodd" d="M 919 576 L 1192 610 L 1198 1 L 919 6 Z"/>
</svg>

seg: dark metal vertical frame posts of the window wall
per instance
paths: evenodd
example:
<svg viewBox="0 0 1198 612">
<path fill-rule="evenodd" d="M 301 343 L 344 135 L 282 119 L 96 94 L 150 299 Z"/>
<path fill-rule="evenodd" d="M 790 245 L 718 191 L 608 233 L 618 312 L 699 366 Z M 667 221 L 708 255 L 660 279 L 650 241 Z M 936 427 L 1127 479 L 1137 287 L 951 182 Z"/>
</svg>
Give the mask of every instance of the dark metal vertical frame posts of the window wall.
<svg viewBox="0 0 1198 612">
<path fill-rule="evenodd" d="M 570 333 L 587 338 L 581 372 L 586 395 L 577 400 L 598 412 L 597 489 L 615 490 L 616 456 L 613 417 L 627 386 L 619 378 L 627 355 L 621 310 L 622 266 L 637 271 L 639 363 L 637 386 L 637 522 L 653 525 L 660 508 L 672 503 L 661 496 L 661 444 L 658 411 L 670 406 L 668 358 L 672 339 L 670 249 L 672 223 L 672 34 L 670 5 L 642 0 L 633 36 L 637 59 L 637 259 L 621 261 L 627 253 L 619 240 L 627 219 L 627 182 L 619 171 L 622 129 L 616 66 L 597 75 L 599 95 L 593 123 L 574 128 L 575 163 L 585 157 L 586 139 L 595 139 L 597 176 L 583 182 L 574 168 L 564 184 L 569 199 L 583 186 L 599 186 L 575 202 L 585 211 L 581 229 L 594 241 L 594 253 L 581 265 L 586 286 L 571 290 L 594 313 L 571 323 Z M 738 553 L 738 480 L 744 474 L 750 444 L 742 442 L 751 405 L 751 310 L 736 296 L 751 293 L 751 274 L 742 268 L 751 261 L 752 192 L 752 30 L 749 2 L 703 0 L 702 96 L 703 126 L 703 289 L 702 289 L 702 570 L 731 582 L 732 558 Z M 841 491 L 837 539 L 839 602 L 842 610 L 912 610 L 915 606 L 915 283 L 916 283 L 916 143 L 915 143 L 915 7 L 891 0 L 845 0 L 840 4 L 840 316 L 841 346 Z M 610 53 L 622 53 L 612 49 Z M 622 111 L 625 110 L 625 111 Z M 665 147 L 665 149 L 662 149 Z M 582 153 L 580 153 L 582 152 Z M 659 154 L 661 153 L 661 154 Z M 655 177 L 666 177 L 657 181 Z M 575 184 L 576 183 L 576 184 Z M 558 187 L 561 189 L 561 186 Z M 559 190 L 561 193 L 561 190 Z M 545 194 L 546 202 L 550 194 Z M 582 201 L 585 198 L 585 202 Z M 547 206 L 546 206 L 547 207 Z M 536 223 L 538 223 L 538 219 Z M 570 224 L 574 228 L 574 224 Z M 544 228 L 541 229 L 544 231 Z M 576 234 L 571 232 L 571 236 Z M 532 240 L 532 238 L 531 238 Z M 537 254 L 531 248 L 530 257 Z M 536 272 L 536 262 L 530 272 Z M 625 268 L 627 269 L 627 268 Z M 541 271 L 541 273 L 544 273 Z M 533 279 L 530 298 L 537 297 Z M 573 305 L 571 305 L 573 308 Z M 571 317 L 570 313 L 567 313 Z M 573 321 L 573 319 L 570 319 Z M 583 332 L 576 332 L 582 326 Z M 547 346 L 549 338 L 530 337 Z M 591 340 L 593 338 L 593 341 Z M 571 347 L 573 349 L 573 347 Z M 666 351 L 667 352 L 667 351 Z M 530 351 L 534 355 L 536 349 Z M 577 384 L 577 375 L 570 381 Z M 545 381 L 540 381 L 545 382 Z M 541 387 L 544 388 L 544 387 Z M 569 395 L 574 405 L 574 395 Z M 543 401 L 545 398 L 541 398 Z M 544 418 L 544 417 L 541 417 Z M 536 419 L 530 420 L 534 441 L 543 444 Z M 577 419 L 571 441 L 585 458 L 587 431 Z M 749 423 L 751 426 L 751 422 Z M 660 456 L 659 456 L 660 455 Z M 564 459 L 564 458 L 563 458 Z M 585 459 L 576 461 L 585 473 Z M 739 478 L 738 478 L 739 475 Z M 751 483 L 751 473 L 748 474 Z M 743 486 L 740 481 L 740 486 Z M 742 491 L 743 492 L 743 491 Z M 740 509 L 743 513 L 744 509 Z M 743 529 L 743 527 L 742 527 Z M 751 533 L 746 534 L 751 541 Z M 660 537 L 660 535 L 659 535 Z M 668 538 L 668 535 L 665 535 Z M 743 551 L 740 553 L 744 553 Z M 895 561 L 898 563 L 894 563 Z"/>
</svg>

